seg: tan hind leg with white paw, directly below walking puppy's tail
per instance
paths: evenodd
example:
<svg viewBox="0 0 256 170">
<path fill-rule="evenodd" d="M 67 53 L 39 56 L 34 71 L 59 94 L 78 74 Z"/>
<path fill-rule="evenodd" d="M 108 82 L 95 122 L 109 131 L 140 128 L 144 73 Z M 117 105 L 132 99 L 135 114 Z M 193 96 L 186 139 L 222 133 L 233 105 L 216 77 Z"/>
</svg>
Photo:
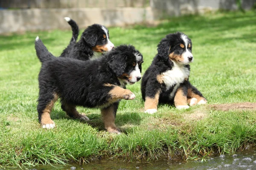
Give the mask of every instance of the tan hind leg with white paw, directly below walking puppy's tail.
<svg viewBox="0 0 256 170">
<path fill-rule="evenodd" d="M 55 123 L 52 121 L 50 113 L 52 111 L 54 103 L 58 99 L 58 95 L 57 94 L 53 94 L 53 96 L 54 96 L 54 98 L 45 107 L 45 109 L 44 109 L 44 111 L 43 111 L 43 113 L 41 115 L 41 125 L 42 125 L 43 128 L 47 128 L 47 129 L 55 127 Z"/>
</svg>

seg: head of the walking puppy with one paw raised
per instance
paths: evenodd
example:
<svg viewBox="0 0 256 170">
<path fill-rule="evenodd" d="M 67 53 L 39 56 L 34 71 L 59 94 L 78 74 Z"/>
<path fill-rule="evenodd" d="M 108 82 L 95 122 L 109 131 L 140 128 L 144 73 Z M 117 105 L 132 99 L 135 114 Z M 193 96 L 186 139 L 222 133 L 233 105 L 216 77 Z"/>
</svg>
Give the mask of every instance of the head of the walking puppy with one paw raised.
<svg viewBox="0 0 256 170">
<path fill-rule="evenodd" d="M 120 45 L 108 54 L 108 66 L 119 79 L 130 85 L 141 79 L 142 54 L 132 45 Z"/>
</svg>

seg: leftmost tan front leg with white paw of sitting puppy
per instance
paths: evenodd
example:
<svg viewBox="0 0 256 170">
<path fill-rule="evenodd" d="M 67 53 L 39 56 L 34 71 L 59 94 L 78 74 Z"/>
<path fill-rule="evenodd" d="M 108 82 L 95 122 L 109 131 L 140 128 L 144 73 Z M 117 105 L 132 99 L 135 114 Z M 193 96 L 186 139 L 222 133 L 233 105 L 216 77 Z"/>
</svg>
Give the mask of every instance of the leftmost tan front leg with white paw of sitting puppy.
<svg viewBox="0 0 256 170">
<path fill-rule="evenodd" d="M 153 114 L 157 112 L 157 105 L 159 100 L 160 91 L 157 91 L 154 98 L 145 97 L 145 113 Z"/>
</svg>

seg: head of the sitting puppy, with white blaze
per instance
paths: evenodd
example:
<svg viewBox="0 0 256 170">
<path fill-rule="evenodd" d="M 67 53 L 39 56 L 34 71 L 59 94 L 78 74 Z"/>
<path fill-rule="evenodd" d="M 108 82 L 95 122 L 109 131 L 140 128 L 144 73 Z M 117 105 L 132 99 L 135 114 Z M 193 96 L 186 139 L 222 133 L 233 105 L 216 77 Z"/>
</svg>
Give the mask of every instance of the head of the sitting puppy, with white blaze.
<svg viewBox="0 0 256 170">
<path fill-rule="evenodd" d="M 158 55 L 163 60 L 171 59 L 178 64 L 188 65 L 193 62 L 192 42 L 188 36 L 177 32 L 168 34 L 157 46 Z"/>
</svg>

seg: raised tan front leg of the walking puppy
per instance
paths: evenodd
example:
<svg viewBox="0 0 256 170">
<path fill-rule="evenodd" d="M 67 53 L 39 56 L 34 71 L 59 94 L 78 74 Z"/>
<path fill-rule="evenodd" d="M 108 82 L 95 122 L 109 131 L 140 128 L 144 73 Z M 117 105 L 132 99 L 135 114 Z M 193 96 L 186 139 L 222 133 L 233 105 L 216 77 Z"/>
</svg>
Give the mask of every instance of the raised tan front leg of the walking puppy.
<svg viewBox="0 0 256 170">
<path fill-rule="evenodd" d="M 105 86 L 113 86 L 113 89 L 108 94 L 111 95 L 112 102 L 116 102 L 118 99 L 132 100 L 135 99 L 135 95 L 128 89 L 120 88 L 116 85 L 105 84 Z"/>
</svg>

